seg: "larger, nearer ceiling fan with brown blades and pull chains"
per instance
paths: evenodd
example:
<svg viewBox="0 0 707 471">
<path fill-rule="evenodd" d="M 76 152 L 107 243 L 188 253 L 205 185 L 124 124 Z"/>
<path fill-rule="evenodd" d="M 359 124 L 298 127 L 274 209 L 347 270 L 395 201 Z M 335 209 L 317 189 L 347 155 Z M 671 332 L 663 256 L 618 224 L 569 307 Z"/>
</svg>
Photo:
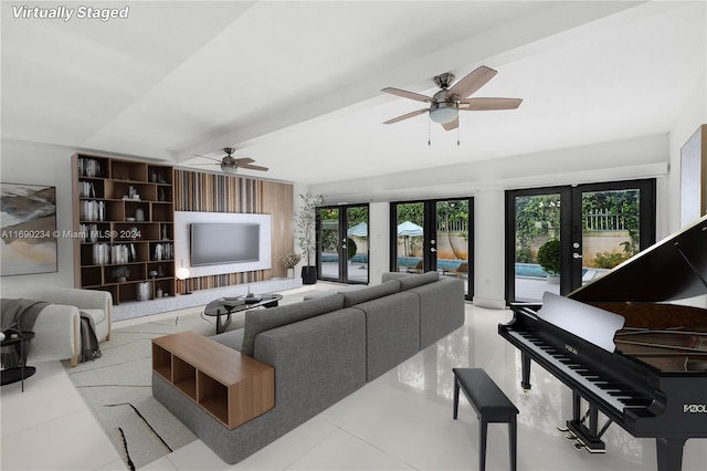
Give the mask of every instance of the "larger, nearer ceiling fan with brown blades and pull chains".
<svg viewBox="0 0 707 471">
<path fill-rule="evenodd" d="M 469 98 L 482 86 L 486 85 L 498 72 L 485 65 L 472 71 L 464 78 L 454 82 L 454 74 L 444 73 L 434 77 L 434 83 L 441 88 L 434 96 L 425 96 L 405 90 L 387 87 L 381 92 L 391 93 L 418 102 L 430 103 L 429 108 L 418 109 L 402 116 L 389 119 L 383 124 L 393 124 L 424 113 L 430 113 L 430 119 L 440 123 L 446 130 L 460 126 L 458 112 L 475 112 L 489 109 L 515 109 L 520 106 L 521 98 Z"/>
</svg>

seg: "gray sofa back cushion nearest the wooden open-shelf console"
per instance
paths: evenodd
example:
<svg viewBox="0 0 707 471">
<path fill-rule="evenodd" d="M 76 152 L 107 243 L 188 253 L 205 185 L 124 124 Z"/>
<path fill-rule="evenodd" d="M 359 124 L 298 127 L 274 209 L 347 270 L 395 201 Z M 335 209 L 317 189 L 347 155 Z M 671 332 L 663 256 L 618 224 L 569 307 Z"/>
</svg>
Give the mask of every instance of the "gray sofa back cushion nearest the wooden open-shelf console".
<svg viewBox="0 0 707 471">
<path fill-rule="evenodd" d="M 285 304 L 283 306 L 265 310 L 249 311 L 245 313 L 245 326 L 243 327 L 243 355 L 253 356 L 255 349 L 255 336 L 271 328 L 304 321 L 320 314 L 337 311 L 344 307 L 344 296 L 334 294 L 302 303 Z"/>
</svg>

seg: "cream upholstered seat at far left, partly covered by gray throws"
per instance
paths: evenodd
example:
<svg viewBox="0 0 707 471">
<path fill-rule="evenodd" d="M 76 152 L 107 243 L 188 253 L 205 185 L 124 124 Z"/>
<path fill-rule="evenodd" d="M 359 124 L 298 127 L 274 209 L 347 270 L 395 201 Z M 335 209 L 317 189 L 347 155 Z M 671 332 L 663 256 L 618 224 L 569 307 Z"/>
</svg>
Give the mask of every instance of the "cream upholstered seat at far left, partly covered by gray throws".
<svg viewBox="0 0 707 471">
<path fill-rule="evenodd" d="M 91 315 L 98 342 L 110 339 L 113 296 L 107 291 L 66 287 L 14 286 L 2 290 L 2 297 L 46 301 L 34 322 L 28 362 L 71 359 L 78 364 L 81 353 L 80 311 Z"/>
</svg>

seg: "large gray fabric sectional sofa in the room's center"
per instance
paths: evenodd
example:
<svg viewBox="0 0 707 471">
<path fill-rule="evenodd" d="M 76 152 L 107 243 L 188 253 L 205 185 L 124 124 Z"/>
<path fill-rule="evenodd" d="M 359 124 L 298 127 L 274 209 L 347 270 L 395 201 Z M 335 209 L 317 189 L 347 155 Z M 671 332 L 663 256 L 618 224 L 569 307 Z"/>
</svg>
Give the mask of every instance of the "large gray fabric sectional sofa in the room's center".
<svg viewBox="0 0 707 471">
<path fill-rule="evenodd" d="M 152 395 L 236 463 L 464 324 L 457 279 L 386 273 L 382 283 L 268 310 L 211 337 L 275 369 L 275 407 L 229 430 L 159 375 Z"/>
</svg>

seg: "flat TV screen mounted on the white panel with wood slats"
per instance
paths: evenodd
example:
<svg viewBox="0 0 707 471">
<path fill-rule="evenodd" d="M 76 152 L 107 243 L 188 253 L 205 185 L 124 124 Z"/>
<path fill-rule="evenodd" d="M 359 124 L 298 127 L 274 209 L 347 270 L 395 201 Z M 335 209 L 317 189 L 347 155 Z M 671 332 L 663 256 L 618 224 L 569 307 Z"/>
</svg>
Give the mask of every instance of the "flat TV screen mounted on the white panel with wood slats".
<svg viewBox="0 0 707 471">
<path fill-rule="evenodd" d="M 256 262 L 260 240 L 257 223 L 192 223 L 191 265 Z"/>
</svg>

